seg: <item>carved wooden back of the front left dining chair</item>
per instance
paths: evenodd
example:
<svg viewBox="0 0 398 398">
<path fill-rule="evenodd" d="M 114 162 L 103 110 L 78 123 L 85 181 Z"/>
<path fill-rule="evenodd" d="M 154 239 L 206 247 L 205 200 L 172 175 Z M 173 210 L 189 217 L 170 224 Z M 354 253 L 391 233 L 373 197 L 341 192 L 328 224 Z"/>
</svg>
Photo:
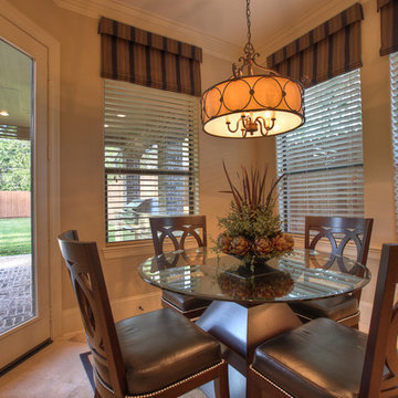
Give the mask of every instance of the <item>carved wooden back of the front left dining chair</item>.
<svg viewBox="0 0 398 398">
<path fill-rule="evenodd" d="M 126 371 L 96 243 L 78 242 L 74 230 L 57 240 L 82 314 L 95 377 L 109 386 L 112 396 L 125 397 Z"/>
</svg>

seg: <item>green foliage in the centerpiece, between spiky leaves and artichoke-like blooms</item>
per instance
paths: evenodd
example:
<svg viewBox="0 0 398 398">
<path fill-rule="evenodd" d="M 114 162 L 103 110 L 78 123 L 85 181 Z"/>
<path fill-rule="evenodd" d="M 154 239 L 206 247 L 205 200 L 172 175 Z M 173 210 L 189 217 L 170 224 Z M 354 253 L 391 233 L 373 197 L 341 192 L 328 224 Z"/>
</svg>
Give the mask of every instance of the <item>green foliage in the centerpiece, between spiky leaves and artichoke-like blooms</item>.
<svg viewBox="0 0 398 398">
<path fill-rule="evenodd" d="M 272 238 L 281 232 L 280 218 L 273 213 L 271 206 L 253 210 L 250 205 L 243 203 L 238 211 L 233 201 L 229 212 L 219 218 L 219 227 L 231 238 L 244 237 L 250 241 L 256 237 Z"/>
</svg>

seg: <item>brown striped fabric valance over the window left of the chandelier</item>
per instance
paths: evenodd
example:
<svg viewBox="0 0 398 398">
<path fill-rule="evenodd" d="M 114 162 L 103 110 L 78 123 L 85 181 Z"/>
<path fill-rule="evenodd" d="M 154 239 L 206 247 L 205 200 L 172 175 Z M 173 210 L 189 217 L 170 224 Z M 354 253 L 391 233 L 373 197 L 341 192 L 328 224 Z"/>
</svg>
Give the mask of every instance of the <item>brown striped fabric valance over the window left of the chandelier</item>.
<svg viewBox="0 0 398 398">
<path fill-rule="evenodd" d="M 200 48 L 104 17 L 98 33 L 102 77 L 200 96 Z"/>
</svg>

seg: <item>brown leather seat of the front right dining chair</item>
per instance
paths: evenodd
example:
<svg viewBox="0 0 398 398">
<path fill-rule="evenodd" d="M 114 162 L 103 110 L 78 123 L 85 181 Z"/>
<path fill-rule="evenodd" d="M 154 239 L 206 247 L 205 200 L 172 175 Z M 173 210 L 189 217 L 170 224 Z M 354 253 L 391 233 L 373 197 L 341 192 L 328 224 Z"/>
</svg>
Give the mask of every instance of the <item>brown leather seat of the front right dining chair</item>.
<svg viewBox="0 0 398 398">
<path fill-rule="evenodd" d="M 295 398 L 357 397 L 367 335 L 317 318 L 256 348 L 253 369 Z"/>
</svg>

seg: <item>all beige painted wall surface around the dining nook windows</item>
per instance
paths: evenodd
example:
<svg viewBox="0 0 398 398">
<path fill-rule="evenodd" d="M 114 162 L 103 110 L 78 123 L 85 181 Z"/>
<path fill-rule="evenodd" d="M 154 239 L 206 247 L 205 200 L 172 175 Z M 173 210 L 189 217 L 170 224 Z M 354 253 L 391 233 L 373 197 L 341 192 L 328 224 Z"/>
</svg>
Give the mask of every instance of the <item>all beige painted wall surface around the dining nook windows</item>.
<svg viewBox="0 0 398 398">
<path fill-rule="evenodd" d="M 378 55 L 379 15 L 375 1 L 363 1 L 363 111 L 365 160 L 365 212 L 375 218 L 373 248 L 395 241 L 392 160 L 389 116 L 388 57 Z M 97 20 L 59 8 L 51 0 L 18 0 L 12 4 L 61 43 L 61 223 L 62 230 L 77 229 L 84 240 L 98 242 L 109 296 L 118 308 L 132 314 L 158 305 L 158 291 L 137 274 L 139 262 L 150 255 L 150 245 L 106 251 L 104 238 L 103 80 L 100 77 Z M 314 22 L 308 30 L 321 23 Z M 144 25 L 140 28 L 145 29 Z M 295 39 L 286 40 L 289 43 Z M 284 44 L 286 44 L 284 43 Z M 265 55 L 265 54 L 263 54 Z M 207 53 L 202 63 L 202 87 L 229 76 L 231 64 Z M 222 159 L 234 171 L 240 164 L 269 163 L 275 170 L 274 139 L 249 142 L 214 138 L 200 133 L 200 211 L 208 217 L 214 238 L 217 216 L 223 214 L 230 198 Z M 139 254 L 137 254 L 139 253 Z M 61 263 L 60 263 L 61 264 Z M 52 266 L 61 266 L 52 264 Z M 127 283 L 126 283 L 127 281 Z M 150 293 L 154 300 L 146 300 Z M 149 294 L 149 295 L 150 295 Z M 144 296 L 143 296 L 144 295 Z M 136 296 L 137 300 L 129 301 Z M 75 298 L 63 271 L 63 331 L 80 327 Z M 124 311 L 123 308 L 128 308 Z"/>
</svg>

